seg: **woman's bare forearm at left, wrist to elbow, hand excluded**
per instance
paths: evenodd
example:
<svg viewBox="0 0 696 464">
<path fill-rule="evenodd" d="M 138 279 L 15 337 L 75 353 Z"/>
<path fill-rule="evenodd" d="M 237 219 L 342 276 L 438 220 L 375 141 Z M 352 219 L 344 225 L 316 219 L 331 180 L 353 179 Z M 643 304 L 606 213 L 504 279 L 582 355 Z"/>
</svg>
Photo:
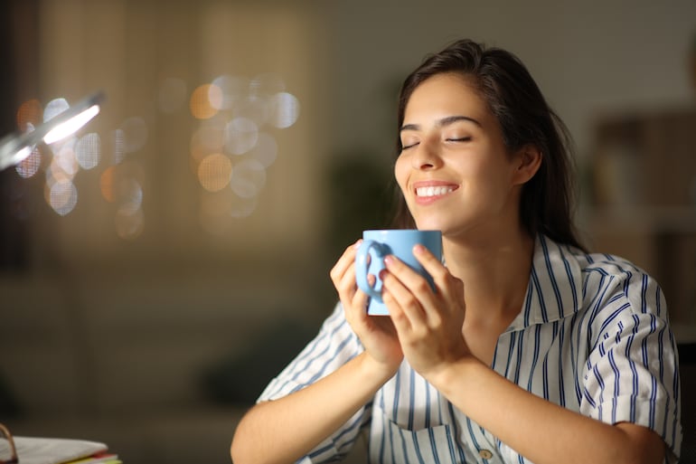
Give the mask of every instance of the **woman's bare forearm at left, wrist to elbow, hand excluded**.
<svg viewBox="0 0 696 464">
<path fill-rule="evenodd" d="M 235 431 L 232 460 L 294 462 L 349 421 L 392 374 L 363 352 L 315 384 L 260 402 Z"/>
</svg>

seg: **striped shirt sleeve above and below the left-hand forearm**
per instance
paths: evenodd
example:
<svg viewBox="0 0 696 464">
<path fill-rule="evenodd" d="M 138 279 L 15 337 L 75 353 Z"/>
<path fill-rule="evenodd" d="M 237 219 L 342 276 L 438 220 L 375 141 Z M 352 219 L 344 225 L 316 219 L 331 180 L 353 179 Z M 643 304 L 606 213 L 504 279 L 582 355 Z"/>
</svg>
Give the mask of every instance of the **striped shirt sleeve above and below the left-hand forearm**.
<svg viewBox="0 0 696 464">
<path fill-rule="evenodd" d="M 277 400 L 314 384 L 363 350 L 360 339 L 345 320 L 343 306 L 338 303 L 315 339 L 271 380 L 257 402 Z M 355 440 L 369 424 L 371 417 L 372 403 L 368 403 L 338 431 L 297 462 L 305 464 L 342 459 L 353 448 Z"/>
</svg>

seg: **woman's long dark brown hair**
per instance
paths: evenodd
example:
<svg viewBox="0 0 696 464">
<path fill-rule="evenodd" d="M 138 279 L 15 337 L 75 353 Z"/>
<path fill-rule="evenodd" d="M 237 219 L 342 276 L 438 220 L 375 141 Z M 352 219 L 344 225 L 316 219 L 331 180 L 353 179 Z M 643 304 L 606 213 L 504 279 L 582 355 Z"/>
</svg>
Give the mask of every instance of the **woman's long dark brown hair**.
<svg viewBox="0 0 696 464">
<path fill-rule="evenodd" d="M 543 233 L 553 241 L 584 249 L 572 219 L 573 157 L 568 128 L 550 109 L 530 72 L 513 53 L 459 40 L 442 52 L 429 55 L 401 86 L 397 128 L 403 124 L 413 90 L 424 80 L 444 72 L 460 73 L 472 83 L 498 120 L 505 147 L 511 152 L 525 145 L 541 151 L 539 171 L 522 186 L 522 225 L 532 237 Z M 397 137 L 397 156 L 401 148 Z M 396 190 L 394 225 L 413 228 L 413 217 L 398 186 Z"/>
</svg>

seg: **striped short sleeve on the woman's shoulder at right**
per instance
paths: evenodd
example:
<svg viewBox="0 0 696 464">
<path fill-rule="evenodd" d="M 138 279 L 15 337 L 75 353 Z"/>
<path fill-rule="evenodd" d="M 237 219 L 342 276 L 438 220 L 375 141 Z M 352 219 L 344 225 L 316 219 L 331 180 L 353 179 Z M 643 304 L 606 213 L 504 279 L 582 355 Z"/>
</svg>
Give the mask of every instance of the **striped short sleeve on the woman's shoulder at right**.
<svg viewBox="0 0 696 464">
<path fill-rule="evenodd" d="M 658 433 L 667 462 L 682 446 L 679 359 L 662 290 L 635 270 L 610 279 L 597 302 L 580 412 Z"/>
</svg>

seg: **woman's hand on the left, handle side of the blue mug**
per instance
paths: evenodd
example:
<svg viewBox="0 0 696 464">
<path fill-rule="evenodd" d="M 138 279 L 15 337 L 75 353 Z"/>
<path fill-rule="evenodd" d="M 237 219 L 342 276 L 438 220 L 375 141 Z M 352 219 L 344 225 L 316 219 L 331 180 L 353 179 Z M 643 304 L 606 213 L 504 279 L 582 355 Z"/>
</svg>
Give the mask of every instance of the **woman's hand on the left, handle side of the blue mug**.
<svg viewBox="0 0 696 464">
<path fill-rule="evenodd" d="M 383 369 L 386 378 L 389 378 L 399 369 L 403 352 L 391 317 L 367 314 L 369 297 L 358 288 L 355 281 L 355 254 L 361 242 L 356 241 L 343 251 L 330 275 L 341 299 L 348 324 L 360 338 L 366 354 Z M 371 275 L 368 279 L 372 283 L 374 276 Z"/>
</svg>

